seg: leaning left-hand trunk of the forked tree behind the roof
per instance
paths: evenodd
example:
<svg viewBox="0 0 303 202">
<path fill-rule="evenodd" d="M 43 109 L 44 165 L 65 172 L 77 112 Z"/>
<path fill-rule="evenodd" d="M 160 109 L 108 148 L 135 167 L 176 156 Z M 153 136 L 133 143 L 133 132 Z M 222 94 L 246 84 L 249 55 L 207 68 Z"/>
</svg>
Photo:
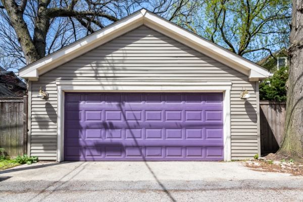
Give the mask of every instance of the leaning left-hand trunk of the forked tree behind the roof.
<svg viewBox="0 0 303 202">
<path fill-rule="evenodd" d="M 18 7 L 15 1 L 2 0 L 2 3 L 8 12 L 11 24 L 17 34 L 26 63 L 30 64 L 40 59 L 23 19 L 23 11 Z"/>
</svg>

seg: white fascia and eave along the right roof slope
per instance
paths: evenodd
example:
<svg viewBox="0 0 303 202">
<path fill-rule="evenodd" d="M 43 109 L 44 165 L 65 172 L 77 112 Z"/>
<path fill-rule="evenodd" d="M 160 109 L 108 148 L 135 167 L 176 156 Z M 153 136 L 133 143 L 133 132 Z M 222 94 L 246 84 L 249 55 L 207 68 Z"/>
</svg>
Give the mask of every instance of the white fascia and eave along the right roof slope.
<svg viewBox="0 0 303 202">
<path fill-rule="evenodd" d="M 249 76 L 249 78 L 252 78 L 249 74 L 250 70 L 255 72 L 255 78 L 266 78 L 269 75 L 268 70 L 260 67 L 259 65 L 249 62 L 244 58 L 227 51 L 225 48 L 205 40 L 155 14 L 146 12 L 144 15 L 144 24 L 196 49 L 196 51 L 218 60 L 219 62 Z"/>
</svg>

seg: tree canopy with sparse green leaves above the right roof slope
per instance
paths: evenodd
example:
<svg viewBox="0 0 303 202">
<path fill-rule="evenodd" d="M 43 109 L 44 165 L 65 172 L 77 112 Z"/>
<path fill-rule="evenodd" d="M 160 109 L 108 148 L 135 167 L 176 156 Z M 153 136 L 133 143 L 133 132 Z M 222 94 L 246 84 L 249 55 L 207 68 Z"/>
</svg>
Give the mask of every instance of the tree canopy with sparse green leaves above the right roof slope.
<svg viewBox="0 0 303 202">
<path fill-rule="evenodd" d="M 289 0 L 200 0 L 183 24 L 193 32 L 257 62 L 289 45 Z"/>
</svg>

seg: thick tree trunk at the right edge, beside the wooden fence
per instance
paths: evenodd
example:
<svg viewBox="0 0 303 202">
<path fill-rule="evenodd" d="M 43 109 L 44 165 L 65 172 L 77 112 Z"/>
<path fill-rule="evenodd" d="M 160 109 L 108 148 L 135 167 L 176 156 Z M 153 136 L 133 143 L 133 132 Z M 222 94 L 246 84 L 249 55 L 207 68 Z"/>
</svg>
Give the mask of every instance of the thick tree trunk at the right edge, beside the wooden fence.
<svg viewBox="0 0 303 202">
<path fill-rule="evenodd" d="M 284 139 L 278 154 L 303 157 L 303 0 L 293 0 Z"/>
</svg>

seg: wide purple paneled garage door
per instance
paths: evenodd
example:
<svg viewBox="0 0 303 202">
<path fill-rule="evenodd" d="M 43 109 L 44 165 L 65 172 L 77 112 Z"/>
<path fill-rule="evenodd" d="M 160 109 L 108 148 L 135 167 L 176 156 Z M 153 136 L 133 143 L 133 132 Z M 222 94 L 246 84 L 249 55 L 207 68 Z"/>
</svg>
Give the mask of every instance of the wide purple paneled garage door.
<svg viewBox="0 0 303 202">
<path fill-rule="evenodd" d="M 222 93 L 65 93 L 65 161 L 223 160 Z"/>
</svg>

